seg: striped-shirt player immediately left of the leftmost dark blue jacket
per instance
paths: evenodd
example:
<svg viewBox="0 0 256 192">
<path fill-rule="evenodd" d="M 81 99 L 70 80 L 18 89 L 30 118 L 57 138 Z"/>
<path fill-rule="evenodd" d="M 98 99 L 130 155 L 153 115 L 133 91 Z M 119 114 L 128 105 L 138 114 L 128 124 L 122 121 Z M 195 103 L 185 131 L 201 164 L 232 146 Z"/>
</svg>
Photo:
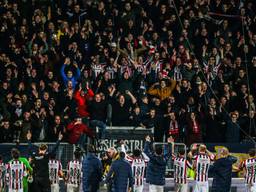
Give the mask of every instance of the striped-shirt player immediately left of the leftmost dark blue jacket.
<svg viewBox="0 0 256 192">
<path fill-rule="evenodd" d="M 74 152 L 75 159 L 68 162 L 67 165 L 67 191 L 78 192 L 82 189 L 82 151 L 77 148 Z"/>
</svg>

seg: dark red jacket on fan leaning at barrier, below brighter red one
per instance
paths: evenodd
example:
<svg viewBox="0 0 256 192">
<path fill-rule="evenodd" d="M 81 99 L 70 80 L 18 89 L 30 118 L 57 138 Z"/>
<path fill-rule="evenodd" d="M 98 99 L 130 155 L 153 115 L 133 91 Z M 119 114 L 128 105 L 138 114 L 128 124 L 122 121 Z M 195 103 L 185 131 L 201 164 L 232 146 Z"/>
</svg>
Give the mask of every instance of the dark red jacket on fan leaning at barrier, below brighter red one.
<svg viewBox="0 0 256 192">
<path fill-rule="evenodd" d="M 75 122 L 71 122 L 67 126 L 68 131 L 68 142 L 71 144 L 76 144 L 80 138 L 80 136 L 84 133 L 89 137 L 93 137 L 93 131 L 87 127 L 85 124 L 75 124 Z"/>
</svg>

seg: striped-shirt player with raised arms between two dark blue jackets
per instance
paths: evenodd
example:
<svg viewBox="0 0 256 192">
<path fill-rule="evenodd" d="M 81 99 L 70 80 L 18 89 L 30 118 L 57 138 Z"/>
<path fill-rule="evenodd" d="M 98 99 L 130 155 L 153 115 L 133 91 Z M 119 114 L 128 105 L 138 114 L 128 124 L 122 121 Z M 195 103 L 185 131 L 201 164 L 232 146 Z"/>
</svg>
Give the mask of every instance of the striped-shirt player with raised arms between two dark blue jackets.
<svg viewBox="0 0 256 192">
<path fill-rule="evenodd" d="M 126 153 L 125 145 L 122 142 L 121 150 Z M 134 149 L 131 156 L 126 154 L 125 158 L 132 166 L 132 174 L 134 178 L 133 192 L 142 192 L 145 170 L 147 163 L 149 162 L 149 158 L 139 149 Z"/>
</svg>

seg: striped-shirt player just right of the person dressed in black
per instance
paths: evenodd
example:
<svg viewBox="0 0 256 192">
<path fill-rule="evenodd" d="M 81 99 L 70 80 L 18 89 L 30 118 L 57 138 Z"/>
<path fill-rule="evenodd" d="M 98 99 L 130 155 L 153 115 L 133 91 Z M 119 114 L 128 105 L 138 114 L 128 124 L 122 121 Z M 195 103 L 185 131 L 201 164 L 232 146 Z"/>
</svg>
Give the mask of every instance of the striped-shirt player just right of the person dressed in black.
<svg viewBox="0 0 256 192">
<path fill-rule="evenodd" d="M 62 164 L 55 157 L 55 154 L 50 154 L 48 163 L 51 192 L 60 191 L 60 177 L 63 177 Z"/>
</svg>

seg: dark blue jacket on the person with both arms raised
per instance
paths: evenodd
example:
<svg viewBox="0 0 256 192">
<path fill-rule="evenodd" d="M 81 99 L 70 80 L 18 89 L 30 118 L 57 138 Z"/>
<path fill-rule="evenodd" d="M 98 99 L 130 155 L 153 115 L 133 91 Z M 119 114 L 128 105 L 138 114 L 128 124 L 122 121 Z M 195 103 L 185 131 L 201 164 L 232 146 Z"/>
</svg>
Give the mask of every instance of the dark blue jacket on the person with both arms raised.
<svg viewBox="0 0 256 192">
<path fill-rule="evenodd" d="M 149 157 L 146 172 L 146 182 L 153 185 L 165 185 L 165 171 L 168 159 L 171 156 L 169 150 L 164 155 L 156 155 L 150 149 L 150 142 L 145 142 L 144 153 Z"/>
</svg>

